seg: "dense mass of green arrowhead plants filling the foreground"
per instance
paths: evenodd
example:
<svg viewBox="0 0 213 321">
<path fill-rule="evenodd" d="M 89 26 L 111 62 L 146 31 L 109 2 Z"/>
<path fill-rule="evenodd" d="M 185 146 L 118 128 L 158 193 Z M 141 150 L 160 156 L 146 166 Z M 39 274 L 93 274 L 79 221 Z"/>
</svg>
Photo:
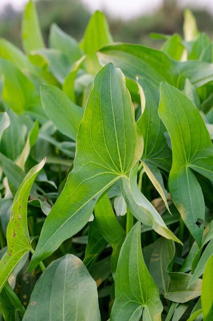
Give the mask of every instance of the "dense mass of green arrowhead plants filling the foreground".
<svg viewBox="0 0 213 321">
<path fill-rule="evenodd" d="M 0 40 L 5 321 L 212 320 L 212 43 L 188 11 L 152 36 L 95 12 L 46 48 L 29 1 L 25 54 Z"/>
</svg>

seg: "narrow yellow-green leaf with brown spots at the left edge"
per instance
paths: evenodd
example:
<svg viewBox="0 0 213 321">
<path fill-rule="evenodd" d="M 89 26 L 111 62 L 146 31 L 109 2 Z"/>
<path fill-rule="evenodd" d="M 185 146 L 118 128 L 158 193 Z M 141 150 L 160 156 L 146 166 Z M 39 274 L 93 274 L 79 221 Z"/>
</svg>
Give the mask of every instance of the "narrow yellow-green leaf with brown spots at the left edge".
<svg viewBox="0 0 213 321">
<path fill-rule="evenodd" d="M 31 249 L 27 225 L 27 202 L 35 177 L 44 166 L 44 162 L 45 160 L 42 160 L 29 171 L 15 194 L 7 228 L 8 251 L 0 261 L 0 292 L 22 256 Z"/>
</svg>

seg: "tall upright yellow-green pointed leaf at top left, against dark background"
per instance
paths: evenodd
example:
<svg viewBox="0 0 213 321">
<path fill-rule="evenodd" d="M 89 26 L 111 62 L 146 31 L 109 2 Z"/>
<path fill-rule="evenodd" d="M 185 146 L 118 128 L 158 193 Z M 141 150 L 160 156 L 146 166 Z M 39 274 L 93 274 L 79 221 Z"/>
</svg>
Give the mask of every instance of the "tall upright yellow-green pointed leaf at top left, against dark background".
<svg viewBox="0 0 213 321">
<path fill-rule="evenodd" d="M 35 3 L 30 0 L 22 17 L 22 46 L 29 54 L 32 50 L 44 48 Z"/>
</svg>

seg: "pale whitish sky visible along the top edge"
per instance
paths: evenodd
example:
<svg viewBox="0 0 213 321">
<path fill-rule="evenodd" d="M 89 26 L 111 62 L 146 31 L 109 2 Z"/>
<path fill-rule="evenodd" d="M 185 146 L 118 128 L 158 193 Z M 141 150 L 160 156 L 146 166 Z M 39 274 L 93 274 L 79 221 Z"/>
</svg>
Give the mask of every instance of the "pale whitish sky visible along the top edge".
<svg viewBox="0 0 213 321">
<path fill-rule="evenodd" d="M 28 0 L 0 0 L 0 10 L 5 4 L 22 9 Z M 82 0 L 91 11 L 104 10 L 116 17 L 129 18 L 147 13 L 160 6 L 162 0 Z M 213 0 L 179 0 L 181 6 L 205 7 L 213 13 Z"/>
</svg>

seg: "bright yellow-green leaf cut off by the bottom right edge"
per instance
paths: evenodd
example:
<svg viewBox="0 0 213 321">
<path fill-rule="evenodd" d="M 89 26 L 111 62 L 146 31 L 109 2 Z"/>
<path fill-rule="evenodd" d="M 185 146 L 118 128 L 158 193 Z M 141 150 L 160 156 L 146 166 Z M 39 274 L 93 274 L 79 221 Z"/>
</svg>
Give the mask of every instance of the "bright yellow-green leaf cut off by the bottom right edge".
<svg viewBox="0 0 213 321">
<path fill-rule="evenodd" d="M 213 315 L 213 256 L 211 255 L 203 273 L 203 284 L 201 289 L 201 305 L 203 311 L 203 321 L 211 321 Z"/>
</svg>

